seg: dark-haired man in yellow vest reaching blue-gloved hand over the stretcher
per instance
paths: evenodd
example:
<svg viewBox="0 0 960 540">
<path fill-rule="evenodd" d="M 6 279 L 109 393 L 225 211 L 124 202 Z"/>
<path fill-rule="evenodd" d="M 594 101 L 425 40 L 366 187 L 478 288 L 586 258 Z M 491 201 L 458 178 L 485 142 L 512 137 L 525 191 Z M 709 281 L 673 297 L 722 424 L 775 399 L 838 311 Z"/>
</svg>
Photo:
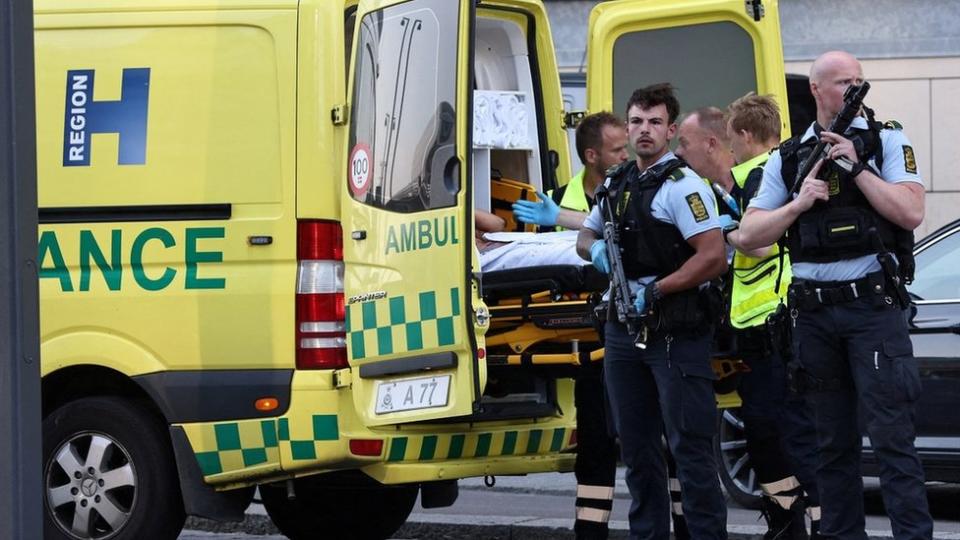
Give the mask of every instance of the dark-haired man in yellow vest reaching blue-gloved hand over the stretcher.
<svg viewBox="0 0 960 540">
<path fill-rule="evenodd" d="M 540 202 L 514 203 L 514 216 L 543 228 L 579 229 L 593 208 L 594 193 L 604 172 L 627 160 L 623 121 L 609 112 L 591 114 L 577 125 L 577 154 L 583 169 L 570 182 L 544 195 Z M 600 362 L 579 367 L 573 387 L 577 406 L 576 521 L 578 540 L 607 538 L 617 472 L 616 440 L 607 430 Z"/>
</svg>

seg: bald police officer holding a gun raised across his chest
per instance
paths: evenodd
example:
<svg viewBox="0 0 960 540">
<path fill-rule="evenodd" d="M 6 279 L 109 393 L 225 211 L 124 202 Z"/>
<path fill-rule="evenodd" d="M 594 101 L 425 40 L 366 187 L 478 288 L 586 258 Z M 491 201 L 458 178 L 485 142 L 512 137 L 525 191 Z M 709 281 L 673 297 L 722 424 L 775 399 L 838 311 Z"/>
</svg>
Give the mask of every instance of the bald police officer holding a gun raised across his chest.
<svg viewBox="0 0 960 540">
<path fill-rule="evenodd" d="M 846 133 L 823 130 L 841 110 L 847 87 L 862 82 L 860 63 L 848 53 L 828 52 L 814 61 L 810 90 L 817 121 L 771 154 L 739 240 L 750 250 L 786 233 L 794 275 L 792 362 L 815 417 L 821 534 L 866 538 L 859 413 L 880 461 L 894 537 L 931 538 L 913 444 L 920 381 L 902 312 L 912 231 L 923 219 L 923 184 L 898 125 L 879 125 L 868 115 L 857 117 Z M 818 139 L 830 144 L 826 159 L 791 192 Z"/>
</svg>

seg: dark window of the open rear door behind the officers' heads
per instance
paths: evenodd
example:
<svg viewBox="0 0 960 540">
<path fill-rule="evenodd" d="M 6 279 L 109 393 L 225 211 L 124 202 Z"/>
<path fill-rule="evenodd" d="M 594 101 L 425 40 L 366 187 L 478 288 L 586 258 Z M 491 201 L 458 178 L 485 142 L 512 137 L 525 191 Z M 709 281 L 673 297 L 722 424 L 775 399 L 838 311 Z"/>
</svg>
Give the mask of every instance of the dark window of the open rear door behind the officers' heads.
<svg viewBox="0 0 960 540">
<path fill-rule="evenodd" d="M 727 21 L 659 28 L 621 36 L 613 49 L 613 103 L 625 112 L 637 88 L 669 82 L 684 111 L 724 108 L 757 91 L 753 40 Z"/>
</svg>

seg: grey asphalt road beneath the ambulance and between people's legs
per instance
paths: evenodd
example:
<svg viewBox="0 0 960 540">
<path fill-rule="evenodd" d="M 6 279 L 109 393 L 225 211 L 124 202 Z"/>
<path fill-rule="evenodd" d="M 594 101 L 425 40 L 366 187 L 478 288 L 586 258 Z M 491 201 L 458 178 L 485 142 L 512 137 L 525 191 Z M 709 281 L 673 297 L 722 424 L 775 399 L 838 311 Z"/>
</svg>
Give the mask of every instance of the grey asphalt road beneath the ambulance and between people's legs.
<svg viewBox="0 0 960 540">
<path fill-rule="evenodd" d="M 626 538 L 629 494 L 618 479 L 616 499 L 611 517 L 611 538 Z M 883 502 L 875 479 L 866 481 L 867 531 L 871 538 L 891 538 L 890 523 L 883 511 Z M 403 539 L 547 539 L 573 538 L 573 505 L 576 485 L 571 473 L 538 474 L 529 477 L 499 477 L 494 487 L 483 480 L 468 479 L 460 483 L 460 497 L 448 508 L 425 510 L 417 505 L 407 524 L 395 538 Z M 934 514 L 934 535 L 938 540 L 960 540 L 960 485 L 931 484 L 928 487 Z M 759 513 L 730 503 L 727 531 L 732 538 L 756 538 L 765 527 Z M 239 526 L 237 526 L 239 525 Z M 192 520 L 180 540 L 279 540 L 275 528 L 254 505 L 242 524 L 228 525 L 219 533 L 200 532 L 211 524 Z M 259 536 L 257 536 L 259 535 Z"/>
</svg>

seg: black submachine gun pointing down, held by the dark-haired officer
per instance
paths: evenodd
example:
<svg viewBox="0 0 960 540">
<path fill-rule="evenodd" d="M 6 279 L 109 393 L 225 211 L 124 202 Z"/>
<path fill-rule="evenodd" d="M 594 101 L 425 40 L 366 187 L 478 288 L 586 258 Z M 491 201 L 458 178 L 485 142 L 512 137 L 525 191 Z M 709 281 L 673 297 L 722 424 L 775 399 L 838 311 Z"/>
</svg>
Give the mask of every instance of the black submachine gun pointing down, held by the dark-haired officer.
<svg viewBox="0 0 960 540">
<path fill-rule="evenodd" d="M 623 261 L 620 259 L 620 233 L 617 231 L 617 220 L 613 213 L 613 205 L 616 203 L 608 188 L 613 178 L 619 176 L 628 164 L 629 162 L 607 171 L 606 181 L 597 189 L 596 199 L 601 206 L 603 239 L 607 247 L 607 260 L 610 263 L 610 303 L 616 309 L 617 320 L 627 327 L 627 332 L 631 336 L 637 337 L 634 344 L 640 349 L 645 349 L 647 345 L 641 340 L 638 328 L 640 316 L 630 302 L 630 285 L 623 273 Z M 626 189 L 626 183 L 623 184 L 620 189 Z"/>
</svg>

